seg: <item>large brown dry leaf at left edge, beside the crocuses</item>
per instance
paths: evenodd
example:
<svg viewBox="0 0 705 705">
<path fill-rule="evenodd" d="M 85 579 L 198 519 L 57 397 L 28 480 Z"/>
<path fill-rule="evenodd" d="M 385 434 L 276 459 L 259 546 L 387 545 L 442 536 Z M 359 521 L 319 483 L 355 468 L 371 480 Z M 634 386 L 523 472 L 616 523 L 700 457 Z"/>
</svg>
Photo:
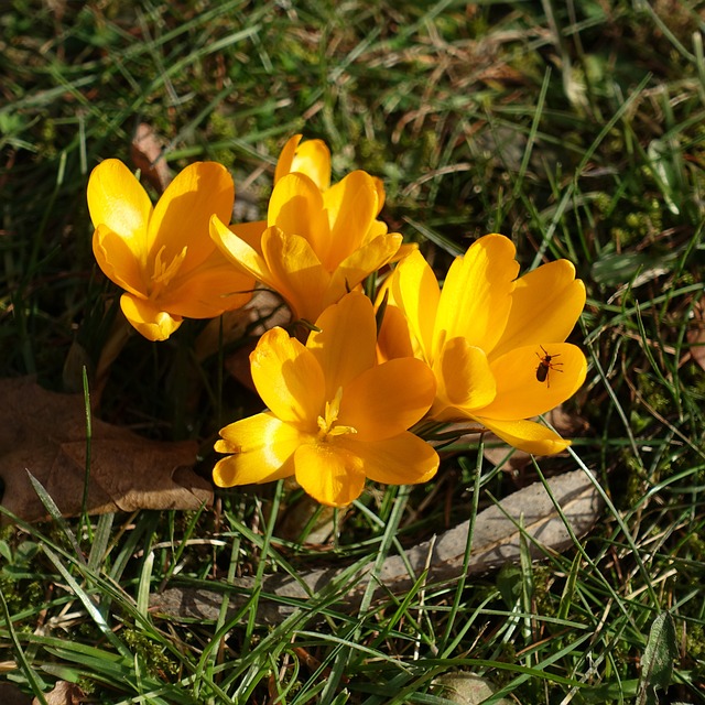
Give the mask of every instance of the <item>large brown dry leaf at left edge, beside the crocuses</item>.
<svg viewBox="0 0 705 705">
<path fill-rule="evenodd" d="M 0 380 L 0 506 L 26 521 L 46 517 L 29 471 L 64 516 L 78 514 L 86 467 L 83 394 L 50 392 L 22 378 Z M 89 513 L 212 503 L 210 484 L 192 469 L 194 442 L 150 441 L 98 419 L 91 425 Z"/>
</svg>

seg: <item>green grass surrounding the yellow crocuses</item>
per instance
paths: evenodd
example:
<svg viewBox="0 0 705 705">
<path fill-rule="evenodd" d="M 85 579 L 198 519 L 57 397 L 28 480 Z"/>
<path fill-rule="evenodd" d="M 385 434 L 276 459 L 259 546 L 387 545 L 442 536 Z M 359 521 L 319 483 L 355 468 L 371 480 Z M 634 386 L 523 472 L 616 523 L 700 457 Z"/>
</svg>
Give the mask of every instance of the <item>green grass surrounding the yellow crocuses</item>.
<svg viewBox="0 0 705 705">
<path fill-rule="evenodd" d="M 226 586 L 392 554 L 536 469 L 492 473 L 460 448 L 427 486 L 366 492 L 323 547 L 282 529 L 300 499 L 283 486 L 225 491 L 197 514 L 20 523 L 0 539 L 0 677 L 40 702 L 67 680 L 99 703 L 432 704 L 455 670 L 524 705 L 705 701 L 705 371 L 688 338 L 705 264 L 702 9 L 50 4 L 0 10 L 2 377 L 75 391 L 97 364 L 115 290 L 93 260 L 86 183 L 101 159 L 129 163 L 139 122 L 174 170 L 220 161 L 261 207 L 303 131 L 329 144 L 336 176 L 383 177 L 383 217 L 438 271 L 490 231 L 514 240 L 523 270 L 575 262 L 588 304 L 572 341 L 590 365 L 570 409 L 589 425 L 574 453 L 539 464 L 590 468 L 609 503 L 562 555 L 421 581 L 352 612 L 336 600 L 344 574 L 278 625 L 258 618 L 258 587 L 237 601 Z M 207 474 L 220 424 L 252 400 L 219 356 L 193 362 L 203 325 L 160 345 L 133 336 L 99 413 L 197 438 Z M 162 617 L 148 606 L 165 586 L 219 588 L 223 605 L 213 620 Z"/>
</svg>

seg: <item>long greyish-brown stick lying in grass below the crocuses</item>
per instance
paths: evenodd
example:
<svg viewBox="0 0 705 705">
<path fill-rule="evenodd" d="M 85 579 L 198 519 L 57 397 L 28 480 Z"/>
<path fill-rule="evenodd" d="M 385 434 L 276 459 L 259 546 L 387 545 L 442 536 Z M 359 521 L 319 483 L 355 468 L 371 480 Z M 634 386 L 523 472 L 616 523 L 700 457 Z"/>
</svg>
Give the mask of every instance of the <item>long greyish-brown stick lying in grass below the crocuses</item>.
<svg viewBox="0 0 705 705">
<path fill-rule="evenodd" d="M 603 508 L 594 480 L 583 470 L 574 470 L 550 478 L 547 485 L 571 531 L 578 538 L 587 533 Z M 404 593 L 426 568 L 429 583 L 458 578 L 463 574 L 468 531 L 469 520 L 409 549 L 403 558 L 398 555 L 388 557 L 375 576 L 379 584 L 378 592 Z M 528 536 L 529 552 L 534 558 L 545 553 L 565 551 L 573 544 L 571 533 L 542 482 L 534 482 L 509 495 L 477 516 L 467 574 L 485 573 L 507 563 L 519 562 L 522 533 Z M 409 574 L 408 565 L 413 575 Z M 278 595 L 284 600 L 261 599 L 259 618 L 263 621 L 281 621 L 293 610 L 293 607 L 284 604 L 285 600 L 306 599 L 311 594 L 319 593 L 343 570 L 338 566 L 316 570 L 300 574 L 297 578 L 290 575 L 267 576 L 261 594 Z M 345 597 L 345 605 L 349 609 L 359 605 L 372 570 L 372 563 L 361 568 L 355 588 Z M 243 596 L 230 593 L 235 609 L 239 600 L 247 598 L 247 592 L 253 589 L 254 579 L 238 578 L 234 587 L 245 593 Z M 158 611 L 195 619 L 217 619 L 221 604 L 221 593 L 192 588 L 171 588 L 152 598 L 152 606 Z"/>
</svg>

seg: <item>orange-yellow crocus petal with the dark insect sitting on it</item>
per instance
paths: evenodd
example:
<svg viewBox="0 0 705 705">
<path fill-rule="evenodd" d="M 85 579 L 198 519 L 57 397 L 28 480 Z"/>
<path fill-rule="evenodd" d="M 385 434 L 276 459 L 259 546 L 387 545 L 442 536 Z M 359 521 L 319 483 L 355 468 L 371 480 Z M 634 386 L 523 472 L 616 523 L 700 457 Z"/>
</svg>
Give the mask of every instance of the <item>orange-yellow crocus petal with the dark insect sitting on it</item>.
<svg viewBox="0 0 705 705">
<path fill-rule="evenodd" d="M 545 364 L 552 368 L 541 369 L 546 352 L 551 360 Z M 495 420 L 528 419 L 554 409 L 581 388 L 587 372 L 585 356 L 570 343 L 516 348 L 490 367 L 497 397 L 478 414 Z"/>
</svg>

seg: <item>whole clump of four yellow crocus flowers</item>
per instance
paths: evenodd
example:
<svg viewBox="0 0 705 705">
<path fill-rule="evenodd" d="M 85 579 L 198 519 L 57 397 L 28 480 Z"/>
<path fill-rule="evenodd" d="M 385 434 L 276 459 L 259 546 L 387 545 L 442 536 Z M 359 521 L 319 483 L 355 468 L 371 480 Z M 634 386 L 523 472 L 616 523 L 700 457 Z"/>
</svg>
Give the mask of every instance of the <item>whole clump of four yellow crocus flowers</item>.
<svg viewBox="0 0 705 705">
<path fill-rule="evenodd" d="M 511 240 L 487 235 L 441 288 L 417 248 L 400 249 L 379 219 L 381 182 L 355 171 L 332 185 L 327 147 L 301 135 L 280 154 L 265 220 L 228 225 L 234 193 L 213 163 L 186 167 L 154 208 L 117 160 L 88 185 L 96 259 L 145 337 L 242 305 L 256 280 L 311 324 L 307 338 L 276 327 L 259 339 L 250 368 L 265 409 L 220 431 L 218 486 L 294 477 L 344 507 L 368 479 L 424 482 L 438 468 L 414 433 L 425 421 L 469 422 L 533 454 L 570 444 L 532 420 L 586 376 L 585 356 L 565 341 L 585 305 L 568 261 L 518 276 Z M 360 284 L 397 261 L 376 311 Z"/>
</svg>

